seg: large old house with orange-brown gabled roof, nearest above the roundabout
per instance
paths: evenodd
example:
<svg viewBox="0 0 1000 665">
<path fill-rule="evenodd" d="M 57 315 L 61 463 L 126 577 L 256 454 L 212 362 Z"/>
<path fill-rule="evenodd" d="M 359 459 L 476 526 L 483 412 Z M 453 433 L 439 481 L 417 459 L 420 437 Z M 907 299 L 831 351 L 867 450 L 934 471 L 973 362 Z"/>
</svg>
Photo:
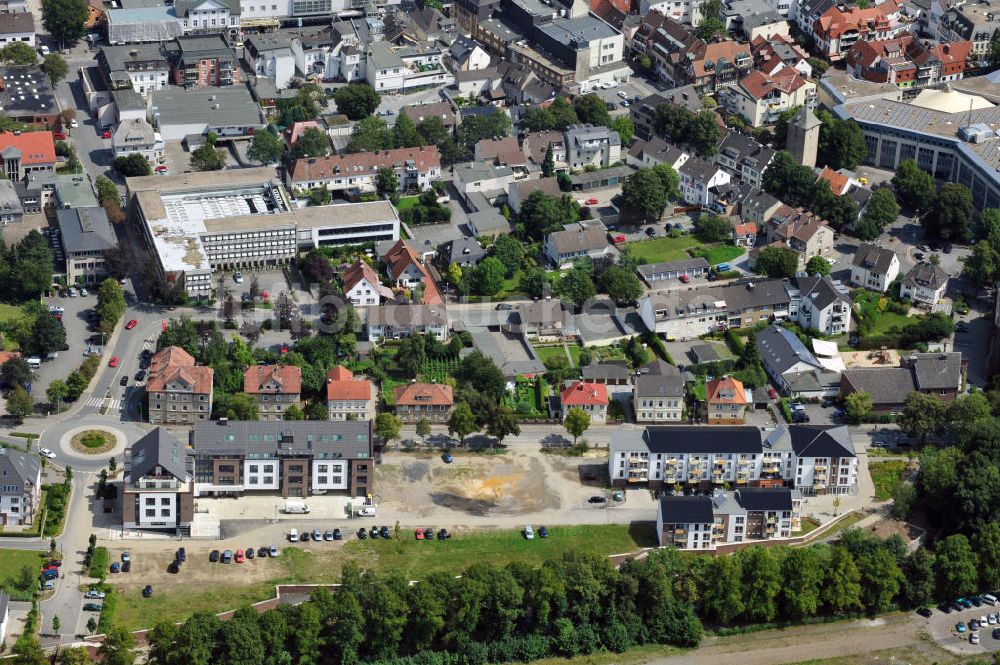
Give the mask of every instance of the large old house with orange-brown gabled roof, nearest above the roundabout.
<svg viewBox="0 0 1000 665">
<path fill-rule="evenodd" d="M 211 367 L 196 367 L 194 357 L 179 346 L 158 351 L 149 365 L 146 395 L 149 422 L 193 425 L 212 415 Z"/>
</svg>

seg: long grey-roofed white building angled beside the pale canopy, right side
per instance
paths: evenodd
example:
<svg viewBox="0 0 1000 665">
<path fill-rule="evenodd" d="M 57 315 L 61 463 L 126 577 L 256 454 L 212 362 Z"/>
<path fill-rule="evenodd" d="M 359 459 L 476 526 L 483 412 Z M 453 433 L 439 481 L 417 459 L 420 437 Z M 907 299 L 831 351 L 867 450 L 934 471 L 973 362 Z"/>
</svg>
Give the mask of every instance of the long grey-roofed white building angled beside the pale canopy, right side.
<svg viewBox="0 0 1000 665">
<path fill-rule="evenodd" d="M 813 399 L 840 392 L 837 366 L 817 358 L 788 328 L 775 323 L 758 330 L 756 344 L 764 371 L 782 394 Z"/>
</svg>

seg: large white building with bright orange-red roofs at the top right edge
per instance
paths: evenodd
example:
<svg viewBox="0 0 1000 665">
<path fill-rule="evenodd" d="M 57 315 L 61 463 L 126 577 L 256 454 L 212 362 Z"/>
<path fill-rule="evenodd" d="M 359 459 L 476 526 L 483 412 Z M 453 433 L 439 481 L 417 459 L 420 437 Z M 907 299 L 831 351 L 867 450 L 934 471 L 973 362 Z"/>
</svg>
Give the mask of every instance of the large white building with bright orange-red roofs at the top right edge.
<svg viewBox="0 0 1000 665">
<path fill-rule="evenodd" d="M 890 39 L 905 30 L 906 24 L 900 22 L 899 16 L 895 0 L 866 8 L 835 5 L 816 19 L 812 35 L 823 55 L 839 60 L 859 40 Z"/>
</svg>

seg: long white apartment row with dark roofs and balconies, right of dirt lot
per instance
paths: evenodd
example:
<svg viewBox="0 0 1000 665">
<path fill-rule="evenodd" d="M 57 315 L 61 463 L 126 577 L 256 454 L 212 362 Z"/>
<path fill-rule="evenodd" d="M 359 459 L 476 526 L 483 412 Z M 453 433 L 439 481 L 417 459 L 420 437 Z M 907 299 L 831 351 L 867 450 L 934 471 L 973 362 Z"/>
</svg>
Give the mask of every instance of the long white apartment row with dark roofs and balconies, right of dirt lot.
<svg viewBox="0 0 1000 665">
<path fill-rule="evenodd" d="M 843 425 L 674 425 L 612 433 L 608 472 L 616 487 L 707 489 L 728 483 L 846 494 L 857 484 L 857 457 Z"/>
</svg>

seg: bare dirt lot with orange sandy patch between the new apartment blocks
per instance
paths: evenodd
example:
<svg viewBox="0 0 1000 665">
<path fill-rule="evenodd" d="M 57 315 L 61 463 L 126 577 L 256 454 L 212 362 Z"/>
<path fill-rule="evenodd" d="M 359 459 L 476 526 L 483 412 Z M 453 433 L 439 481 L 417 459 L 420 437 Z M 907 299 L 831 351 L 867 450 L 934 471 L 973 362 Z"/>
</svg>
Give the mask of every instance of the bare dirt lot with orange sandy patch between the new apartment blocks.
<svg viewBox="0 0 1000 665">
<path fill-rule="evenodd" d="M 579 508 L 595 493 L 595 488 L 581 483 L 582 477 L 607 464 L 606 458 L 517 450 L 497 455 L 456 453 L 451 464 L 436 454 L 391 459 L 376 472 L 382 508 L 413 519 L 432 515 L 440 519 L 446 514 L 453 520 Z"/>
</svg>

